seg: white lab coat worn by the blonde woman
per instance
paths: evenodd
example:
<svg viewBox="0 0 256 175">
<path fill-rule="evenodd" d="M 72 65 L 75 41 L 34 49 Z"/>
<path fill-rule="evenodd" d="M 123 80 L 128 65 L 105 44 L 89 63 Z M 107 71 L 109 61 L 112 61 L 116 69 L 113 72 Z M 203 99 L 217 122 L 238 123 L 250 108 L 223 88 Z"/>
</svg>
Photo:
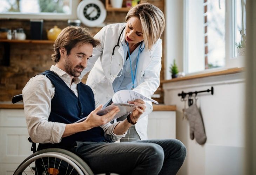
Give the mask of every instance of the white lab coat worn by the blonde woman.
<svg viewBox="0 0 256 175">
<path fill-rule="evenodd" d="M 115 58 L 111 64 L 111 76 L 110 59 L 112 51 L 125 25 L 126 23 L 117 23 L 105 26 L 94 36 L 94 38 L 100 40 L 100 46 L 93 49 L 93 56 L 89 59 L 87 68 L 81 73 L 82 77 L 90 71 L 86 84 L 96 91 L 100 104 L 103 105 L 112 99 L 114 95 L 112 83 L 115 79 L 112 76 L 116 76 L 121 71 L 122 63 L 125 61 L 121 44 L 125 35 L 125 31 L 123 31 L 120 38 L 120 48 L 117 47 L 118 50 L 115 50 Z M 153 45 L 152 51 L 146 50 L 145 48 L 141 52 L 136 72 L 137 87 L 133 91 L 150 97 L 157 90 L 160 84 L 161 57 L 161 39 L 158 39 Z M 151 102 L 147 102 L 146 106 L 146 111 L 135 125 L 141 140 L 147 139 L 147 115 L 153 110 Z"/>
</svg>

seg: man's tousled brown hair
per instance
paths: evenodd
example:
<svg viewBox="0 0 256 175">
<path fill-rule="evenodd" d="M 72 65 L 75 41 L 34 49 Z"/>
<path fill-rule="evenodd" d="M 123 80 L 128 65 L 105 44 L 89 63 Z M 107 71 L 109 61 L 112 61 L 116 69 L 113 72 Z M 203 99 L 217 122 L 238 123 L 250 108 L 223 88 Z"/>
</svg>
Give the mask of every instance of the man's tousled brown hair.
<svg viewBox="0 0 256 175">
<path fill-rule="evenodd" d="M 52 54 L 52 59 L 55 63 L 60 61 L 60 48 L 64 47 L 67 50 L 67 55 L 70 54 L 70 50 L 76 46 L 83 44 L 92 44 L 96 47 L 100 44 L 99 40 L 93 38 L 92 34 L 87 28 L 69 26 L 64 28 L 53 45 L 54 54 Z"/>
</svg>

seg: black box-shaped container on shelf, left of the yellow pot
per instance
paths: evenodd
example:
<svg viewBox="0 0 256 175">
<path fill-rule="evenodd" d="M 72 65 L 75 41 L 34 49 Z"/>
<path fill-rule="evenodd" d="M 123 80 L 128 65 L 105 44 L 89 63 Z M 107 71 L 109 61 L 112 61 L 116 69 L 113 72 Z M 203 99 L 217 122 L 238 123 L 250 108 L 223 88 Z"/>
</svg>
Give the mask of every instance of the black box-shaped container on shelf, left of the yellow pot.
<svg viewBox="0 0 256 175">
<path fill-rule="evenodd" d="M 31 40 L 43 39 L 43 20 L 30 20 Z"/>
</svg>

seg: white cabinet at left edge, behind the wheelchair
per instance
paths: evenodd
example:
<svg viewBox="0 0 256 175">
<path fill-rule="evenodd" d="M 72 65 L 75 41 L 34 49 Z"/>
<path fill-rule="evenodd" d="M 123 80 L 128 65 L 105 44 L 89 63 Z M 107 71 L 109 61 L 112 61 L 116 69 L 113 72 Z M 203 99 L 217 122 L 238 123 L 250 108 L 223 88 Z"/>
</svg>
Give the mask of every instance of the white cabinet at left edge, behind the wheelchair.
<svg viewBox="0 0 256 175">
<path fill-rule="evenodd" d="M 0 174 L 11 175 L 33 152 L 23 109 L 0 110 Z"/>
</svg>

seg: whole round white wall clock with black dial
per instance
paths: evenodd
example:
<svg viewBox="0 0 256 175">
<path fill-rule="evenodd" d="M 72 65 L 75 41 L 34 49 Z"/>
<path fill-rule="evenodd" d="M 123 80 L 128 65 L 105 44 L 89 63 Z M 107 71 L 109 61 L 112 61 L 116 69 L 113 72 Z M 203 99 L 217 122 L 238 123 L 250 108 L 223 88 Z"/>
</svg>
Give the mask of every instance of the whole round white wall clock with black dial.
<svg viewBox="0 0 256 175">
<path fill-rule="evenodd" d="M 88 27 L 100 25 L 106 19 L 106 9 L 99 0 L 83 0 L 76 10 L 78 19 Z"/>
</svg>

